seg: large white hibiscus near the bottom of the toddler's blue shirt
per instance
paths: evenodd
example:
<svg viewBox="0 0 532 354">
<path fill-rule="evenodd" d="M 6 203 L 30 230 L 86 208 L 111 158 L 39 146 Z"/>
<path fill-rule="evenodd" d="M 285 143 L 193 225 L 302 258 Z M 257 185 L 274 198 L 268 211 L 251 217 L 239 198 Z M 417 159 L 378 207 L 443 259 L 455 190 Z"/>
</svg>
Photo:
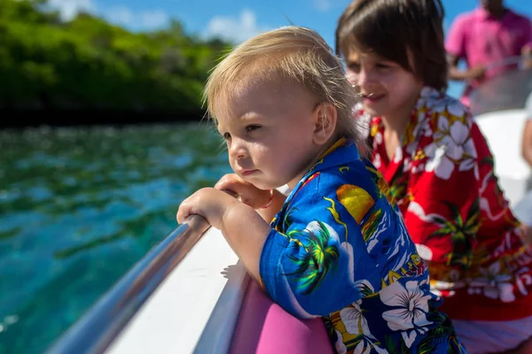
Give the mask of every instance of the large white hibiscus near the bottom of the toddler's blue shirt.
<svg viewBox="0 0 532 354">
<path fill-rule="evenodd" d="M 395 281 L 382 289 L 379 296 L 383 304 L 395 307 L 384 312 L 382 318 L 391 330 L 401 331 L 404 343 L 410 348 L 418 334 L 426 333 L 426 326 L 432 323 L 426 319 L 431 296 L 419 289 L 418 281 L 407 281 L 405 285 Z"/>
</svg>

